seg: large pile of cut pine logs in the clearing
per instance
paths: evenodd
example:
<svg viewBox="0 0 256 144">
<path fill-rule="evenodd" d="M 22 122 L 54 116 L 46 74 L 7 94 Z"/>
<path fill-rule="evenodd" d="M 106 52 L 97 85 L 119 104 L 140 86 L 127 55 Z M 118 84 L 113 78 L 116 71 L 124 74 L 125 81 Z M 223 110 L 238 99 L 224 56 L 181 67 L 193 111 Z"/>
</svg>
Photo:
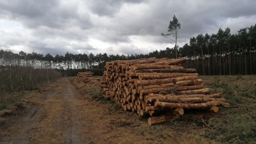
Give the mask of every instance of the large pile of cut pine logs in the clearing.
<svg viewBox="0 0 256 144">
<path fill-rule="evenodd" d="M 218 107 L 229 107 L 222 93 L 208 95 L 210 89 L 204 88 L 196 69 L 185 69 L 182 61 L 152 57 L 106 62 L 100 89 L 125 111 L 154 116 L 148 118 L 149 125 L 179 117 L 186 109 L 214 113 Z"/>
</svg>

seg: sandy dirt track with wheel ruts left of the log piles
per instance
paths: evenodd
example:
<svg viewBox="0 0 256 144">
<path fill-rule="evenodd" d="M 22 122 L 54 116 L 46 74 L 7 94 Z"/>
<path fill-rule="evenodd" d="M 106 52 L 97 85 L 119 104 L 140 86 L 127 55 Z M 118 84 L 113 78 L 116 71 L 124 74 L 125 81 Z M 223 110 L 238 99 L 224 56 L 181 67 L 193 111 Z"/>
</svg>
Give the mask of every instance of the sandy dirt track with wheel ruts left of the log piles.
<svg viewBox="0 0 256 144">
<path fill-rule="evenodd" d="M 22 114 L 0 128 L 0 144 L 85 144 L 77 95 L 68 78 L 59 79 L 48 92 L 35 93 L 24 102 L 26 107 L 20 107 Z"/>
</svg>

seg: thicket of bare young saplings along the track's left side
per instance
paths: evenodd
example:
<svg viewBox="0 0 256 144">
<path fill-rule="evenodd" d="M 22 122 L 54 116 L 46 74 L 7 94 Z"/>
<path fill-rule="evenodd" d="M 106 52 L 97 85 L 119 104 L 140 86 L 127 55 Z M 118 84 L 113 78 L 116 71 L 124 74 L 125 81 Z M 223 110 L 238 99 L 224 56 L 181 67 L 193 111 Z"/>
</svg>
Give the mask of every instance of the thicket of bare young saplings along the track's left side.
<svg viewBox="0 0 256 144">
<path fill-rule="evenodd" d="M 0 109 L 6 102 L 13 101 L 27 91 L 34 91 L 61 77 L 51 63 L 37 59 L 35 53 L 19 54 L 0 50 Z M 42 56 L 42 55 L 41 55 Z"/>
</svg>

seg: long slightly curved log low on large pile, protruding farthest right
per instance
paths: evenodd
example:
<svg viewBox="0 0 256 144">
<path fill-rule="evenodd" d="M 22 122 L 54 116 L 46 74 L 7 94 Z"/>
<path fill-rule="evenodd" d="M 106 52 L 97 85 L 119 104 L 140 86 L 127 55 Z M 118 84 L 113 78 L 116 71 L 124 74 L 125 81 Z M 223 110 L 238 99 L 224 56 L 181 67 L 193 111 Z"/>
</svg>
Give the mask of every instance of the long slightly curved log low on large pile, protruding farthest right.
<svg viewBox="0 0 256 144">
<path fill-rule="evenodd" d="M 224 103 L 222 101 L 210 101 L 206 103 L 166 103 L 166 102 L 160 102 L 156 101 L 154 106 L 160 107 L 160 108 L 184 108 L 184 109 L 200 109 L 200 108 L 210 108 L 210 107 L 216 107 L 216 106 L 222 106 L 222 107 L 229 107 L 230 104 Z"/>
</svg>

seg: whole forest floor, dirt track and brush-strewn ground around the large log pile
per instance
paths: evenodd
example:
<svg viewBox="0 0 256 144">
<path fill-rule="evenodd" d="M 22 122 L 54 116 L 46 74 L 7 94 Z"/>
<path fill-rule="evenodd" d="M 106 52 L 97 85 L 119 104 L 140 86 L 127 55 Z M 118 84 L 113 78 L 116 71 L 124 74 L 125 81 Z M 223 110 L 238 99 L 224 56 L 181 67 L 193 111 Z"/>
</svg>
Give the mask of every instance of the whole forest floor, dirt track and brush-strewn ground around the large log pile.
<svg viewBox="0 0 256 144">
<path fill-rule="evenodd" d="M 226 91 L 224 98 L 228 101 L 233 100 L 228 95 L 237 95 L 237 101 L 230 103 L 231 108 L 220 108 L 220 116 L 204 119 L 212 128 L 200 118 L 180 118 L 148 126 L 147 117 L 123 111 L 113 101 L 102 98 L 97 83 L 84 85 L 77 83 L 76 77 L 62 77 L 0 111 L 0 144 L 254 143 L 255 87 L 245 83 L 241 86 L 240 82 L 233 87 L 223 84 L 226 81 L 222 82 L 221 77 L 201 78 L 213 92 Z M 224 79 L 238 81 L 236 76 Z M 256 76 L 239 80 L 251 83 Z M 232 88 L 237 91 L 233 93 Z M 247 90 L 249 94 L 245 94 Z M 234 124 L 227 118 L 232 118 Z"/>
</svg>

